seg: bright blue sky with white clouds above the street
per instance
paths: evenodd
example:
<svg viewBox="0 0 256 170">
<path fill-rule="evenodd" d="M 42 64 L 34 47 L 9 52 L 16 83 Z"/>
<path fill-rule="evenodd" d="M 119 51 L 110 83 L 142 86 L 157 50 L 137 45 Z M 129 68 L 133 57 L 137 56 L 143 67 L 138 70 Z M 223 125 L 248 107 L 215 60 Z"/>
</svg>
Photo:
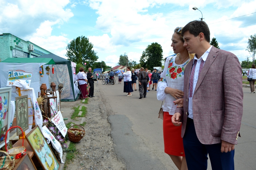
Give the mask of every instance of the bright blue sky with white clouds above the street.
<svg viewBox="0 0 256 170">
<path fill-rule="evenodd" d="M 153 42 L 161 44 L 164 57 L 172 55 L 174 28 L 202 18 L 194 6 L 221 49 L 239 61 L 252 60 L 245 49 L 256 33 L 256 0 L 0 0 L 0 34 L 12 33 L 64 58 L 68 43 L 83 35 L 98 61 L 116 66 L 124 53 L 139 62 Z"/>
</svg>

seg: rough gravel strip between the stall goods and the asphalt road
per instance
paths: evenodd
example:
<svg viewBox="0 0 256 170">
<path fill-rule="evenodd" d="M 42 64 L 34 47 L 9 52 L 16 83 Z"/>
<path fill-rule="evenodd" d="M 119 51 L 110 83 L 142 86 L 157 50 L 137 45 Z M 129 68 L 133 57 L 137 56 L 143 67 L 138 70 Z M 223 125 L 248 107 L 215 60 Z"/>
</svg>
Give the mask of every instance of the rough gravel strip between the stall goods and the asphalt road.
<svg viewBox="0 0 256 170">
<path fill-rule="evenodd" d="M 113 147 L 112 137 L 110 135 L 111 127 L 107 120 L 107 113 L 112 113 L 111 108 L 108 107 L 104 95 L 101 96 L 97 84 L 94 84 L 95 96 L 89 98 L 88 104 L 80 103 L 80 99 L 75 102 L 61 102 L 61 109 L 63 113 L 72 111 L 72 107 L 85 106 L 87 107 L 87 114 L 85 118 L 78 118 L 76 121 L 71 120 L 71 114 L 68 114 L 68 122 L 80 124 L 86 122 L 84 126 L 85 137 L 76 144 L 78 154 L 72 163 L 67 166 L 67 170 L 125 170 L 125 164 L 118 160 L 116 152 Z M 71 112 L 73 113 L 73 112 Z M 63 116 L 65 116 L 63 114 Z M 64 158 L 64 157 L 63 157 Z M 65 161 L 65 160 L 64 160 Z M 63 165 L 61 166 L 61 169 Z"/>
</svg>

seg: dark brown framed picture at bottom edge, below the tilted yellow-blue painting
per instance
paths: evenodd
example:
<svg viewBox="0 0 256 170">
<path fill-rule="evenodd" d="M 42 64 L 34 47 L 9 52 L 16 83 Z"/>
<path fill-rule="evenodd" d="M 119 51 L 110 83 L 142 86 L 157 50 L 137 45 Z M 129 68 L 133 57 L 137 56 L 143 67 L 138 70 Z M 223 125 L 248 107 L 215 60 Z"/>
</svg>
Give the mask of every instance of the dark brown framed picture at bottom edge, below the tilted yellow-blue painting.
<svg viewBox="0 0 256 170">
<path fill-rule="evenodd" d="M 37 170 L 34 162 L 32 159 L 28 156 L 28 154 L 24 155 L 18 164 L 13 168 L 13 170 L 24 170 L 24 169 L 29 169 L 29 170 Z"/>
</svg>

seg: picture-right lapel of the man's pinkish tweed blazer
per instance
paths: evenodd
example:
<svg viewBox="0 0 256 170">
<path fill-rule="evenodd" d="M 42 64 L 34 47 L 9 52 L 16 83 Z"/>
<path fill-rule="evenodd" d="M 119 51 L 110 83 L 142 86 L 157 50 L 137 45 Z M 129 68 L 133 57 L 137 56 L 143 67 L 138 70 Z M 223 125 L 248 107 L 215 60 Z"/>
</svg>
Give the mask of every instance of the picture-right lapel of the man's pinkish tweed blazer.
<svg viewBox="0 0 256 170">
<path fill-rule="evenodd" d="M 195 88 L 195 91 L 194 93 L 196 92 L 196 90 L 198 89 L 198 87 L 200 86 L 200 84 L 202 83 L 207 71 L 209 70 L 210 66 L 212 65 L 213 61 L 215 60 L 215 58 L 217 57 L 218 55 L 218 48 L 215 48 L 215 47 L 212 47 L 212 49 L 210 50 L 207 58 L 206 58 L 206 61 L 204 63 L 204 67 L 203 69 L 201 70 L 200 72 L 200 75 L 198 76 L 198 80 L 197 80 L 197 83 L 196 83 L 196 88 Z"/>
</svg>

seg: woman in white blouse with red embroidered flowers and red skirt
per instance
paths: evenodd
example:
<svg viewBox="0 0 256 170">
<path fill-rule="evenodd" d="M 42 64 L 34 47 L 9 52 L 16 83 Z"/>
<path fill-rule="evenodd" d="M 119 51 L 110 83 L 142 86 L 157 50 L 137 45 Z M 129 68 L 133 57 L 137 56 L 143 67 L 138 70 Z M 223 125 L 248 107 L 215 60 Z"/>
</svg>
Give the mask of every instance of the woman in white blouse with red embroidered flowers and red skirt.
<svg viewBox="0 0 256 170">
<path fill-rule="evenodd" d="M 183 107 L 184 69 L 190 59 L 194 58 L 194 55 L 189 54 L 183 47 L 182 28 L 175 28 L 172 35 L 171 47 L 177 55 L 171 55 L 165 61 L 164 71 L 157 87 L 157 99 L 165 100 L 163 106 L 164 152 L 171 157 L 179 170 L 186 170 L 188 167 L 181 138 L 181 126 L 172 124 L 172 115 L 176 107 Z"/>
</svg>

